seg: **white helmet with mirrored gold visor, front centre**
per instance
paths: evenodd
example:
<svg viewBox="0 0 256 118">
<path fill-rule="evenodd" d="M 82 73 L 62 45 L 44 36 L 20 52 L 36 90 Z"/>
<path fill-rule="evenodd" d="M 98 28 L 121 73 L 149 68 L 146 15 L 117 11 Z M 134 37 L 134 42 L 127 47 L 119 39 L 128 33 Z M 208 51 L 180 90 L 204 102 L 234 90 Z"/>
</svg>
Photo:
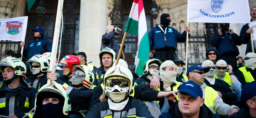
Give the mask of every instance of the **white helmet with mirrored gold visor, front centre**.
<svg viewBox="0 0 256 118">
<path fill-rule="evenodd" d="M 128 82 L 128 83 L 125 83 Z M 131 70 L 117 64 L 108 69 L 104 76 L 104 91 L 110 98 L 120 99 L 131 95 L 133 76 Z"/>
</svg>

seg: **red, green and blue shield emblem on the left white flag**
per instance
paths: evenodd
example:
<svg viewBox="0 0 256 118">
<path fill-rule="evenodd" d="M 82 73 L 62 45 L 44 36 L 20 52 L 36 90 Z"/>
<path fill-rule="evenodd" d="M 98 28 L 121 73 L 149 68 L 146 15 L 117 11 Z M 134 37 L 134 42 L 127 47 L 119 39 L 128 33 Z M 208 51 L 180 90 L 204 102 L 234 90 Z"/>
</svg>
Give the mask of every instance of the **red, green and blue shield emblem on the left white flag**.
<svg viewBox="0 0 256 118">
<path fill-rule="evenodd" d="M 18 34 L 21 31 L 22 22 L 8 21 L 6 23 L 6 32 L 12 35 Z"/>
</svg>

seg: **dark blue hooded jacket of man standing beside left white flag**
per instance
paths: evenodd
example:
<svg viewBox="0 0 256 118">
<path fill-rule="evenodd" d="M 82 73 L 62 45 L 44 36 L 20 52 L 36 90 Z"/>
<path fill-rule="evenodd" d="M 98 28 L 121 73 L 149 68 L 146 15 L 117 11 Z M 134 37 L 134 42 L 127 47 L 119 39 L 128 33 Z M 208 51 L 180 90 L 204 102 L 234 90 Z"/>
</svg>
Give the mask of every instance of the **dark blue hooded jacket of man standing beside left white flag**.
<svg viewBox="0 0 256 118">
<path fill-rule="evenodd" d="M 38 29 L 43 36 L 36 38 L 34 37 L 34 33 L 33 33 L 33 37 L 35 41 L 29 43 L 27 46 L 27 49 L 24 49 L 24 52 L 27 53 L 27 60 L 29 60 L 32 56 L 37 54 L 42 55 L 45 52 L 52 52 L 52 43 L 45 38 L 44 29 L 41 27 L 38 27 Z"/>
</svg>

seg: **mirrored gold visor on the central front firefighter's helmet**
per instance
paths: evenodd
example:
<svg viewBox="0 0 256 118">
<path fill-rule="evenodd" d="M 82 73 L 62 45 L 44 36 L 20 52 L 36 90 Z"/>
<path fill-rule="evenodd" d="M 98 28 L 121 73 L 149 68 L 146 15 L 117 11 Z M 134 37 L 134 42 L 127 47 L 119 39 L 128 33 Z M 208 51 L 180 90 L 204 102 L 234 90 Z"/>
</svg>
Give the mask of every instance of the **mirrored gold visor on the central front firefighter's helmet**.
<svg viewBox="0 0 256 118">
<path fill-rule="evenodd" d="M 106 80 L 106 90 L 109 92 L 125 92 L 129 90 L 130 80 L 122 77 L 111 77 Z"/>
</svg>

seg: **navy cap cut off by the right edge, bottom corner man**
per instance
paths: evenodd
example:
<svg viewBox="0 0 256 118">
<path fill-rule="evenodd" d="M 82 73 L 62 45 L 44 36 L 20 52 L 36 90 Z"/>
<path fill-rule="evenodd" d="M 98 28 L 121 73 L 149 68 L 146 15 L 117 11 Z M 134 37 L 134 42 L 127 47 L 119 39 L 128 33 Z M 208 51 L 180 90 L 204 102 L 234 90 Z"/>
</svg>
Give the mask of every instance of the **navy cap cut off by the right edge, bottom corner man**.
<svg viewBox="0 0 256 118">
<path fill-rule="evenodd" d="M 253 96 L 256 95 L 256 81 L 252 81 L 244 85 L 243 89 L 241 90 L 241 96 L 244 102 L 250 100 Z"/>
</svg>

